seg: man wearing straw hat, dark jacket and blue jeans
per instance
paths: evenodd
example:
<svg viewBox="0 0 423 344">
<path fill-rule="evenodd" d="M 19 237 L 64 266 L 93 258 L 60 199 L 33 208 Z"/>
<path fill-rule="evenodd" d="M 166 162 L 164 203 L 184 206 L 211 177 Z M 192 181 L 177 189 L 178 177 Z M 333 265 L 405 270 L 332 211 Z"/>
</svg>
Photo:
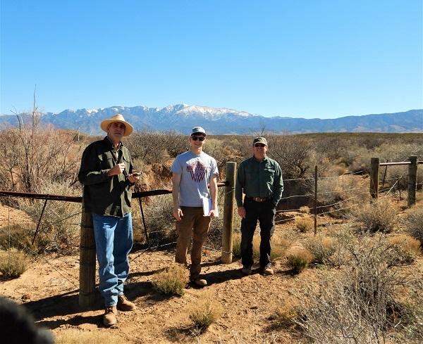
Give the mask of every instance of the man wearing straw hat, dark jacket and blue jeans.
<svg viewBox="0 0 423 344">
<path fill-rule="evenodd" d="M 130 153 L 121 142 L 133 127 L 120 114 L 104 120 L 100 127 L 107 136 L 85 148 L 78 179 L 84 185 L 85 211 L 92 212 L 99 290 L 106 308 L 103 323 L 112 326 L 117 322 L 117 310 L 136 309 L 123 295 L 123 283 L 128 277 L 128 253 L 133 245 L 131 186 L 139 177 L 133 174 Z"/>
</svg>

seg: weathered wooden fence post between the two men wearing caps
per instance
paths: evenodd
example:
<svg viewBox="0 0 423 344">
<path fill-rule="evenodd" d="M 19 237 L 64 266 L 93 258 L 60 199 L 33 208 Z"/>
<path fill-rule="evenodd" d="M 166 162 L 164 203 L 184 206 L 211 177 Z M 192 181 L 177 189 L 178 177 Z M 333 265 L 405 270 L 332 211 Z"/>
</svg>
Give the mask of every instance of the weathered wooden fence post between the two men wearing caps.
<svg viewBox="0 0 423 344">
<path fill-rule="evenodd" d="M 226 163 L 225 203 L 223 205 L 223 233 L 221 262 L 231 264 L 233 244 L 233 204 L 235 203 L 236 163 Z"/>
</svg>

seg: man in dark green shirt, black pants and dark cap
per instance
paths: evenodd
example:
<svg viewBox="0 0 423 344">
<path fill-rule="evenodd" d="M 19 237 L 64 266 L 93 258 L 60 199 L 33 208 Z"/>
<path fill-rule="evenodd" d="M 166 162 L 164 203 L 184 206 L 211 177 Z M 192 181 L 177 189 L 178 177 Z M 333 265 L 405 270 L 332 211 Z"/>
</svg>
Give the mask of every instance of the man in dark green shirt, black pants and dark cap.
<svg viewBox="0 0 423 344">
<path fill-rule="evenodd" d="M 235 200 L 241 220 L 241 258 L 243 274 L 252 273 L 252 238 L 257 220 L 260 224 L 260 268 L 265 275 L 272 275 L 270 250 L 271 235 L 275 227 L 276 205 L 283 192 L 281 167 L 266 156 L 267 141 L 256 137 L 252 143 L 254 155 L 238 167 L 235 183 Z M 243 201 L 243 193 L 245 194 Z"/>
</svg>

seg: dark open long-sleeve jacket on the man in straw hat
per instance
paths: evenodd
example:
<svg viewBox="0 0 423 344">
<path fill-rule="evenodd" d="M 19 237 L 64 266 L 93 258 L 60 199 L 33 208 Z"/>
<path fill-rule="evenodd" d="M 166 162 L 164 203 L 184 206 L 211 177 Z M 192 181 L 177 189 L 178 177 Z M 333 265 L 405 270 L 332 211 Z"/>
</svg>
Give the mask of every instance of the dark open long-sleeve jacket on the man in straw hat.
<svg viewBox="0 0 423 344">
<path fill-rule="evenodd" d="M 125 163 L 124 172 L 108 176 L 107 172 L 117 163 Z M 78 174 L 79 181 L 84 185 L 85 208 L 99 215 L 123 217 L 128 214 L 131 210 L 132 190 L 126 175 L 132 172 L 130 153 L 123 144 L 116 151 L 106 136 L 104 140 L 87 146 L 82 153 Z"/>
</svg>

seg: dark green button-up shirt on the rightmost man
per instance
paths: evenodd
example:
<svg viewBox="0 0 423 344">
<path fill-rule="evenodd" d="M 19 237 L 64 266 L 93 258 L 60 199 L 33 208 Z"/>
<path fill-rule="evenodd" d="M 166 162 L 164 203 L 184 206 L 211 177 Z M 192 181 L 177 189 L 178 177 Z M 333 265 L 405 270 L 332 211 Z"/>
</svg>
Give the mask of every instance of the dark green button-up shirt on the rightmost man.
<svg viewBox="0 0 423 344">
<path fill-rule="evenodd" d="M 235 181 L 235 200 L 243 205 L 243 193 L 247 197 L 271 198 L 276 207 L 282 197 L 282 170 L 275 160 L 265 157 L 262 162 L 248 158 L 240 163 Z"/>
</svg>

